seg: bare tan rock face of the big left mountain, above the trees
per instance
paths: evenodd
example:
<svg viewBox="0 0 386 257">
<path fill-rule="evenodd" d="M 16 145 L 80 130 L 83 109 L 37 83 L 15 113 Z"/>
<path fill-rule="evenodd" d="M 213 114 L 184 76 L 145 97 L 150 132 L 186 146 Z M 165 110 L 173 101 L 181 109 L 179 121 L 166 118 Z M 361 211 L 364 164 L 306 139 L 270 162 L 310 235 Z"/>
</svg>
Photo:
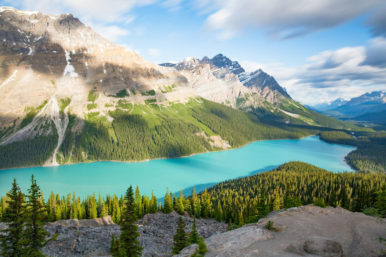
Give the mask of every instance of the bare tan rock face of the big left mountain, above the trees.
<svg viewBox="0 0 386 257">
<path fill-rule="evenodd" d="M 91 89 L 100 97 L 94 111 L 109 112 L 121 90 L 127 101 L 140 103 L 155 90 L 158 102 L 196 97 L 187 79 L 174 68 L 160 67 L 133 51 L 113 44 L 71 14 L 0 8 L 0 127 L 21 122 L 26 107 L 37 107 L 53 97 L 71 98 L 70 111 L 79 117 L 87 109 Z M 161 87 L 174 85 L 163 93 Z M 97 110 L 98 109 L 98 110 Z M 17 124 L 18 125 L 18 124 Z M 40 124 L 39 124 L 40 125 Z"/>
</svg>

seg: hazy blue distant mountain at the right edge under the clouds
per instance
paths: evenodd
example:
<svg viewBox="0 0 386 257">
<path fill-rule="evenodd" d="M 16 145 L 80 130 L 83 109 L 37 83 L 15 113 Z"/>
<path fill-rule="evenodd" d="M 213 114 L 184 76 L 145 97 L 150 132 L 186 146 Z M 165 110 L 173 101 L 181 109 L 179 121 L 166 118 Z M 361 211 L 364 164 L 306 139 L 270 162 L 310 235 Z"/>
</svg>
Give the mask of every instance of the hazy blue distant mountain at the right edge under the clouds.
<svg viewBox="0 0 386 257">
<path fill-rule="evenodd" d="M 386 103 L 386 93 L 382 91 L 374 91 L 351 98 L 351 100 L 345 104 L 335 109 L 331 109 L 331 111 L 341 113 L 343 115 L 358 116 L 366 112 L 381 111 L 383 108 L 380 105 L 383 105 L 384 103 Z"/>
</svg>

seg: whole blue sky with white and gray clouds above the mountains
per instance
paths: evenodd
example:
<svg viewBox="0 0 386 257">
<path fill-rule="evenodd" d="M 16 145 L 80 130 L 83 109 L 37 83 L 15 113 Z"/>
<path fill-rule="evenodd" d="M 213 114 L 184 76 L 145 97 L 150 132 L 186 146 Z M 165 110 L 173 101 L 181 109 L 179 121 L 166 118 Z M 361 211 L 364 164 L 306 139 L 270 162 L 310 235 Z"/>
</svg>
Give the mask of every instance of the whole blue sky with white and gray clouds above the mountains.
<svg viewBox="0 0 386 257">
<path fill-rule="evenodd" d="M 386 91 L 385 0 L 0 0 L 71 13 L 154 63 L 221 53 L 316 103 Z"/>
</svg>

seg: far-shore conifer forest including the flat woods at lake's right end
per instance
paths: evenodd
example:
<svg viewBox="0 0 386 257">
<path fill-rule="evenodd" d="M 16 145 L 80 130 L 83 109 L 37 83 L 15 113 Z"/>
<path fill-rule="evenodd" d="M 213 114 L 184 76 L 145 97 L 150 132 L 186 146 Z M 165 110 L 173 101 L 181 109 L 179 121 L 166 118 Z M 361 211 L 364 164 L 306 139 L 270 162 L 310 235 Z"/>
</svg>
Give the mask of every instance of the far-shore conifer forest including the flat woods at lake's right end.
<svg viewBox="0 0 386 257">
<path fill-rule="evenodd" d="M 77 120 L 70 114 L 59 148 L 62 163 L 143 161 L 222 150 L 211 145 L 209 137 L 214 135 L 219 135 L 233 148 L 257 140 L 300 139 L 320 135 L 328 143 L 357 147 L 346 158 L 353 169 L 362 172 L 386 171 L 385 133 L 299 108 L 288 111 L 313 118 L 315 125 L 281 111 L 261 108 L 245 112 L 201 100 L 199 103 L 192 100 L 190 106 L 173 105 L 171 108 L 178 109 L 178 114 L 174 109 L 168 110 L 157 104 L 147 106 L 153 115 L 117 108 L 109 112 L 112 122 L 98 116 L 99 113 L 91 113 L 82 121 L 84 125 L 80 131 L 73 130 Z M 353 131 L 356 139 L 351 135 Z M 0 146 L 0 169 L 43 165 L 52 156 L 57 139 L 57 134 L 53 134 Z"/>
</svg>

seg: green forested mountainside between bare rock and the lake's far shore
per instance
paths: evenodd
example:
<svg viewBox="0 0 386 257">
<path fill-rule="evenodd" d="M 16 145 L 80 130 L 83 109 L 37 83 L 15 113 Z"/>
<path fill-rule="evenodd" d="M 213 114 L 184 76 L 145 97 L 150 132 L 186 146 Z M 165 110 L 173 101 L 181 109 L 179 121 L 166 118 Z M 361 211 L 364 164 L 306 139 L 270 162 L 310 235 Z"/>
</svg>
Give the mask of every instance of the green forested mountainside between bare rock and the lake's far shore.
<svg viewBox="0 0 386 257">
<path fill-rule="evenodd" d="M 352 124 L 312 113 L 300 104 L 289 109 L 281 106 L 285 111 L 299 114 L 299 118 L 270 104 L 252 108 L 249 113 L 202 98 L 184 104 L 170 102 L 168 106 L 151 102 L 133 106 L 122 102 L 117 107 L 108 113 L 112 122 L 104 113 L 85 114 L 84 126 L 78 132 L 72 129 L 78 121 L 70 115 L 58 162 L 142 161 L 222 150 L 211 144 L 211 136 L 220 136 L 236 148 L 257 140 L 300 139 L 336 130 L 324 125 L 360 130 Z M 344 129 L 340 131 L 347 132 Z M 42 165 L 52 153 L 56 137 L 47 138 L 45 147 L 38 138 L 33 143 L 25 140 L 1 146 L 0 168 Z M 25 158 L 22 153 L 30 157 Z"/>
</svg>

